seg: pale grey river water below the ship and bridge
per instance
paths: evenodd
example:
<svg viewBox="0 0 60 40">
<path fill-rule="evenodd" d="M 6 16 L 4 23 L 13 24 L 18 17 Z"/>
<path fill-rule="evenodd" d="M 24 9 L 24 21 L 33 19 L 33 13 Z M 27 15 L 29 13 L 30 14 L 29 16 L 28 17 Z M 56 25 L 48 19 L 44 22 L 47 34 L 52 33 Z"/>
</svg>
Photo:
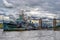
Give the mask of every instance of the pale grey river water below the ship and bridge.
<svg viewBox="0 0 60 40">
<path fill-rule="evenodd" d="M 35 31 L 10 31 L 0 29 L 0 40 L 60 40 L 60 31 L 35 30 Z"/>
</svg>

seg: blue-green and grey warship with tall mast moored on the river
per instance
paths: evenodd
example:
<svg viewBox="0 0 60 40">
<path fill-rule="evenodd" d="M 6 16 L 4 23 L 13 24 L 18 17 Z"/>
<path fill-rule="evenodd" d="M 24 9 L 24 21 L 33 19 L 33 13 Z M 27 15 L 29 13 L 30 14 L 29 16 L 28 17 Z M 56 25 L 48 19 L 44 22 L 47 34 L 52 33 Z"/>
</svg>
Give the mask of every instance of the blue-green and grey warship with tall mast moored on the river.
<svg viewBox="0 0 60 40">
<path fill-rule="evenodd" d="M 30 17 L 28 19 L 24 18 L 24 10 L 19 14 L 19 18 L 16 19 L 15 22 L 4 22 L 3 21 L 3 29 L 4 31 L 22 31 L 22 30 L 36 30 L 37 27 L 31 22 Z"/>
</svg>

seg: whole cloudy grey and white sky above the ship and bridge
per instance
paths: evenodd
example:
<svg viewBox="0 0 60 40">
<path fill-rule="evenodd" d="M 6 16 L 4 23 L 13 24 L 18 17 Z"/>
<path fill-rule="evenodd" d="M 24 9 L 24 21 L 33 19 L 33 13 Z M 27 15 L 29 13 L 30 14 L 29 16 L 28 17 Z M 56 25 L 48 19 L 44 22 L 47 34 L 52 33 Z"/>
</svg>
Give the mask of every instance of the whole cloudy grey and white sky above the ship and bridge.
<svg viewBox="0 0 60 40">
<path fill-rule="evenodd" d="M 14 15 L 20 9 L 26 10 L 28 15 L 59 18 L 60 0 L 0 0 L 0 13 Z"/>
</svg>

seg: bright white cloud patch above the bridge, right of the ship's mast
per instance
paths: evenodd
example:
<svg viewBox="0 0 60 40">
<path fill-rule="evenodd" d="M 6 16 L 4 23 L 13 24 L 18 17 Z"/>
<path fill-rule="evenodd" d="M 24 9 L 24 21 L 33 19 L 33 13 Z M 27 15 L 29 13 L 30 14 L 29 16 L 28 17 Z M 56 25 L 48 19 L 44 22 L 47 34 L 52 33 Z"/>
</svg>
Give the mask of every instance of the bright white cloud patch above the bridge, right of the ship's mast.
<svg viewBox="0 0 60 40">
<path fill-rule="evenodd" d="M 32 9 L 30 10 L 30 12 L 27 12 L 28 15 L 32 15 L 32 16 L 35 16 L 35 17 L 40 17 L 40 18 L 43 18 L 43 17 L 46 17 L 46 18 L 50 18 L 50 19 L 53 19 L 56 14 L 52 14 L 52 13 L 49 13 L 49 12 L 45 12 L 45 11 L 37 11 L 37 9 Z"/>
</svg>

